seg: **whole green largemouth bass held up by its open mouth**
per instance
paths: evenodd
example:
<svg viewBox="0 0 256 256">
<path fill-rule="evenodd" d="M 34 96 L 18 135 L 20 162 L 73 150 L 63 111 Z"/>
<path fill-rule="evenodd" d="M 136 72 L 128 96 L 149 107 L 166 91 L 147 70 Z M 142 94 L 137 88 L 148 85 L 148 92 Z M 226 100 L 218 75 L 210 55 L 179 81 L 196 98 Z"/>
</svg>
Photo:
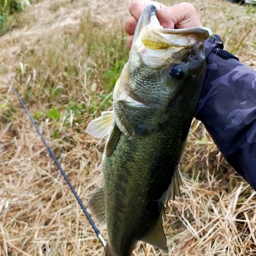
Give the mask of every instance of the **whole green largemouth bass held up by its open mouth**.
<svg viewBox="0 0 256 256">
<path fill-rule="evenodd" d="M 113 111 L 87 132 L 108 135 L 103 186 L 88 201 L 109 240 L 106 256 L 130 256 L 141 240 L 168 251 L 164 207 L 180 196 L 178 164 L 205 76 L 207 28 L 164 29 L 157 8 L 138 21 L 129 60 L 113 92 Z"/>
</svg>

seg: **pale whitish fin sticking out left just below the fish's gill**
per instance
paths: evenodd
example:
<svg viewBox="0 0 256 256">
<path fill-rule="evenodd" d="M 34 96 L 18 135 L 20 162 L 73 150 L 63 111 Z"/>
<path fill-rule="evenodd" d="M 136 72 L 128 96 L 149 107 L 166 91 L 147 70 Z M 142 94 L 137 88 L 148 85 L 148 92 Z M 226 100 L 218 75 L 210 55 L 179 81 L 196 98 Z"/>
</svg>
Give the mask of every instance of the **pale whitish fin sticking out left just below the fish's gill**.
<svg viewBox="0 0 256 256">
<path fill-rule="evenodd" d="M 113 120 L 113 111 L 104 111 L 101 116 L 92 120 L 87 126 L 87 133 L 97 138 L 102 138 L 109 134 Z"/>
</svg>

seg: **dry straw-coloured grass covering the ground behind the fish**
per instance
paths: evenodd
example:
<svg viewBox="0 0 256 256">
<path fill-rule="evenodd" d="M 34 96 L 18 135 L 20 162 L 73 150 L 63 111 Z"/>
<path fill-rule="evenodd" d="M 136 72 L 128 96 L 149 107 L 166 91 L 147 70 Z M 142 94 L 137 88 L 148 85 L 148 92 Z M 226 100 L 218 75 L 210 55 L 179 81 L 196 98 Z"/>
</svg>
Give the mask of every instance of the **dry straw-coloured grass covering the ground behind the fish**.
<svg viewBox="0 0 256 256">
<path fill-rule="evenodd" d="M 255 69 L 255 7 L 190 3 L 226 49 Z M 0 38 L 1 64 L 85 204 L 101 185 L 105 139 L 84 130 L 111 107 L 113 84 L 128 56 L 120 22 L 128 5 L 46 0 L 17 15 Z M 0 255 L 103 255 L 2 75 L 0 92 Z M 166 209 L 169 254 L 140 242 L 134 256 L 256 255 L 256 193 L 225 162 L 203 125 L 195 120 L 192 127 L 180 165 L 182 197 Z"/>
</svg>

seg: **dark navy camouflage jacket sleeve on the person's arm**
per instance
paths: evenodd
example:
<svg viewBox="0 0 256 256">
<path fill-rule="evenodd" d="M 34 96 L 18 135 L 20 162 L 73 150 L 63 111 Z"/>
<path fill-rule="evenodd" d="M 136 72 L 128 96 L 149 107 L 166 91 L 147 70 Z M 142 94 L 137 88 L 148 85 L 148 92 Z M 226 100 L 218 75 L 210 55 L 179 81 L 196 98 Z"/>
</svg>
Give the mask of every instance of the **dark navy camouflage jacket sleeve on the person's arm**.
<svg viewBox="0 0 256 256">
<path fill-rule="evenodd" d="M 205 42 L 207 71 L 196 118 L 256 190 L 256 71 L 224 51 L 215 37 Z"/>
</svg>

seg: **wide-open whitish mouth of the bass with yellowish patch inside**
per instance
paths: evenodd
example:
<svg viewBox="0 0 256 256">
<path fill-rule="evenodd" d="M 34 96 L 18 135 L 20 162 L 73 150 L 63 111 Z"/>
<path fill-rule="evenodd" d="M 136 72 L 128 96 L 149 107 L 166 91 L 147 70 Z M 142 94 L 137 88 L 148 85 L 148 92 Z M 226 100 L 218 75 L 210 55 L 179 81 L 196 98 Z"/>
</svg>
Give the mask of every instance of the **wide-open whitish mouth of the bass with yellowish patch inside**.
<svg viewBox="0 0 256 256">
<path fill-rule="evenodd" d="M 150 5 L 140 16 L 131 50 L 138 50 L 141 47 L 152 50 L 190 48 L 191 45 L 204 42 L 211 34 L 211 30 L 204 27 L 164 29 L 157 18 L 157 8 Z"/>
</svg>

